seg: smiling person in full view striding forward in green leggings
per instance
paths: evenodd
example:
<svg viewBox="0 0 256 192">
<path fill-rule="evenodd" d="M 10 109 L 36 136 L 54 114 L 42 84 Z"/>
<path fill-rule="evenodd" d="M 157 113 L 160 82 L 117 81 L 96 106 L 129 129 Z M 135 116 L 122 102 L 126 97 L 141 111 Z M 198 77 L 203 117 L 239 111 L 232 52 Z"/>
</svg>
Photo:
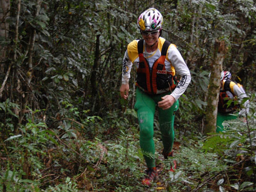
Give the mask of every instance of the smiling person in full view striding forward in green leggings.
<svg viewBox="0 0 256 192">
<path fill-rule="evenodd" d="M 151 184 L 157 178 L 155 164 L 154 114 L 159 114 L 160 131 L 163 142 L 163 156 L 173 156 L 174 117 L 179 107 L 179 97 L 185 92 L 191 76 L 184 59 L 174 44 L 160 37 L 163 17 L 150 8 L 140 14 L 137 25 L 141 40 L 133 40 L 127 46 L 123 58 L 121 97 L 128 98 L 129 79 L 132 65 L 137 68 L 136 103 L 140 147 L 146 161 L 146 178 L 143 184 Z M 175 82 L 175 74 L 180 75 Z M 172 168 L 171 168 L 172 169 Z"/>
</svg>

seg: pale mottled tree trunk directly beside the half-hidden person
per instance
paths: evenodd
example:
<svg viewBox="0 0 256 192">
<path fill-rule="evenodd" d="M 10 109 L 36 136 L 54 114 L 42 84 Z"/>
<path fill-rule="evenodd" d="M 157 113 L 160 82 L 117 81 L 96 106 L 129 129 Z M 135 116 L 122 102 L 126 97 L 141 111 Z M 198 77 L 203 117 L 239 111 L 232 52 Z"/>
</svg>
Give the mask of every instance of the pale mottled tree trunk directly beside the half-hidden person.
<svg viewBox="0 0 256 192">
<path fill-rule="evenodd" d="M 206 125 L 204 134 L 216 132 L 218 101 L 220 92 L 220 74 L 225 57 L 225 41 L 215 41 L 214 59 L 211 63 L 211 75 L 207 92 Z"/>
</svg>

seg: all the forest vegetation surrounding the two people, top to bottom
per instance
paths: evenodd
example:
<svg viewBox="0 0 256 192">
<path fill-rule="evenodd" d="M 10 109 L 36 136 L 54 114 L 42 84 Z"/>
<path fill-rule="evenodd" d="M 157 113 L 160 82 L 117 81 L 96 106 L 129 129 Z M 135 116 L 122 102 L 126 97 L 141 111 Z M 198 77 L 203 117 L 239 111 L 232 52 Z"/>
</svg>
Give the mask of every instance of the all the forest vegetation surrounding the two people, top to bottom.
<svg viewBox="0 0 256 192">
<path fill-rule="evenodd" d="M 119 87 L 126 46 L 141 38 L 137 17 L 150 7 L 192 80 L 175 118 L 176 172 L 167 172 L 156 116 L 161 173 L 145 187 L 136 72 L 128 100 Z M 206 134 L 216 41 L 250 110 L 226 121 L 227 132 Z M 0 190 L 255 191 L 255 60 L 252 0 L 0 0 Z"/>
</svg>

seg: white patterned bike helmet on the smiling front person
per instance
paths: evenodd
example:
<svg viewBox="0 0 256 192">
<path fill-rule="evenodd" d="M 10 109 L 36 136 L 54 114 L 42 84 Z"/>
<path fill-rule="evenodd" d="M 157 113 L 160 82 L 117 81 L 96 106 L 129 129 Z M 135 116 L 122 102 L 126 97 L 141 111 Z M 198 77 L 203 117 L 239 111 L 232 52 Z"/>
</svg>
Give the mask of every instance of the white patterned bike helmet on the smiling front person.
<svg viewBox="0 0 256 192">
<path fill-rule="evenodd" d="M 137 25 L 142 31 L 157 31 L 162 29 L 163 16 L 155 8 L 147 9 L 140 14 Z"/>
</svg>

